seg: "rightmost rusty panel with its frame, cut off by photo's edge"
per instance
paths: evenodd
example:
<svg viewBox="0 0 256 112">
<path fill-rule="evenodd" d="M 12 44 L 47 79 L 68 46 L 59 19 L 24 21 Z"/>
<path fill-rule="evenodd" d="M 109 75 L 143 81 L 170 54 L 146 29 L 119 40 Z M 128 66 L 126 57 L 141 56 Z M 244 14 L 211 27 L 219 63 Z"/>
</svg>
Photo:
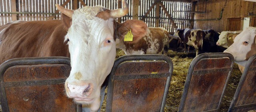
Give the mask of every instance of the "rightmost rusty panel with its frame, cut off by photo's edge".
<svg viewBox="0 0 256 112">
<path fill-rule="evenodd" d="M 249 58 L 230 104 L 229 112 L 256 109 L 256 55 Z"/>
</svg>

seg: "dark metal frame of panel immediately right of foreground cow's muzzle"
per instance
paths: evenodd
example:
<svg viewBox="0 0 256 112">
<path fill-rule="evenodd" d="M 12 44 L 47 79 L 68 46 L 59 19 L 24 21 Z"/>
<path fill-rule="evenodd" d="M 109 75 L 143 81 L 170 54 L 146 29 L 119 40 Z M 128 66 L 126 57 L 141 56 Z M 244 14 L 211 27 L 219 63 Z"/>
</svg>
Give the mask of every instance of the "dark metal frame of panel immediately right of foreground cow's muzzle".
<svg viewBox="0 0 256 112">
<path fill-rule="evenodd" d="M 172 71 L 173 71 L 173 63 L 172 60 L 165 55 L 159 55 L 159 54 L 145 54 L 145 55 L 128 55 L 128 56 L 122 56 L 118 59 L 116 59 L 114 66 L 112 68 L 112 71 L 110 72 L 109 75 L 109 79 L 108 79 L 108 93 L 107 93 L 107 105 L 106 105 L 106 112 L 111 112 L 112 111 L 112 98 L 113 98 L 113 94 L 110 94 L 109 92 L 113 91 L 113 76 L 116 73 L 116 70 L 118 68 L 118 66 L 122 63 L 122 62 L 126 62 L 126 61 L 135 61 L 135 60 L 164 60 L 165 62 L 167 62 L 169 64 L 169 74 L 166 80 L 166 86 L 165 86 L 165 90 L 164 90 L 164 96 L 163 96 L 163 100 L 162 100 L 162 105 L 161 105 L 161 109 L 160 112 L 164 111 L 164 106 L 166 104 L 166 98 L 168 95 L 168 90 L 169 90 L 169 86 L 170 86 L 170 80 L 172 77 Z M 141 76 L 136 76 L 136 78 L 144 78 L 145 75 L 141 75 Z M 149 76 L 147 76 L 149 77 Z M 156 77 L 156 76 L 152 76 L 152 77 Z M 131 79 L 131 77 L 126 77 L 127 79 Z M 133 78 L 132 78 L 133 79 Z M 108 100 L 109 99 L 109 100 Z M 111 100 L 110 100 L 111 99 Z"/>
</svg>

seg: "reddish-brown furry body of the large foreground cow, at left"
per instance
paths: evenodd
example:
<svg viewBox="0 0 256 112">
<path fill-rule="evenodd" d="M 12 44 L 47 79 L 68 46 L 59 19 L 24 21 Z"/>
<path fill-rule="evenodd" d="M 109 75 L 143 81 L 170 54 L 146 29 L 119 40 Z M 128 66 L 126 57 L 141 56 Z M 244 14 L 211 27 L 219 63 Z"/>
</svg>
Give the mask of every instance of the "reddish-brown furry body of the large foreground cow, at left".
<svg viewBox="0 0 256 112">
<path fill-rule="evenodd" d="M 2 27 L 6 29 L 0 35 L 0 64 L 20 57 L 70 57 L 62 20 L 19 22 Z"/>
</svg>

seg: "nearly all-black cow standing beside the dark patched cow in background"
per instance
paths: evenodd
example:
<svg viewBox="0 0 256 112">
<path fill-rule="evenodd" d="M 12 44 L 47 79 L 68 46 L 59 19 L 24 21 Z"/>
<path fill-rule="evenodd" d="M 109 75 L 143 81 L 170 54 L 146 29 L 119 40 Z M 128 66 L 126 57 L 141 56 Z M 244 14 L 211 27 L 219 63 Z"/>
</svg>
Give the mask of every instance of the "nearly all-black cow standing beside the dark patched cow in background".
<svg viewBox="0 0 256 112">
<path fill-rule="evenodd" d="M 223 52 L 226 48 L 217 46 L 219 33 L 214 30 L 203 30 L 205 33 L 202 52 Z"/>
</svg>

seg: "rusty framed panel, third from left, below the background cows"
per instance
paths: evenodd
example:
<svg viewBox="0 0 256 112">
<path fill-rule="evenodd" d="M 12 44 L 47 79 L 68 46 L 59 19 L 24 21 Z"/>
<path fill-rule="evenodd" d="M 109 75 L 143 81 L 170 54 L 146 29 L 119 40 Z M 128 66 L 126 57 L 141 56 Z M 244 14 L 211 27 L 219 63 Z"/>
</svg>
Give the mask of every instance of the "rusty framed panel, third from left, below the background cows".
<svg viewBox="0 0 256 112">
<path fill-rule="evenodd" d="M 227 53 L 200 54 L 190 64 L 179 112 L 218 112 L 234 65 Z"/>
</svg>

